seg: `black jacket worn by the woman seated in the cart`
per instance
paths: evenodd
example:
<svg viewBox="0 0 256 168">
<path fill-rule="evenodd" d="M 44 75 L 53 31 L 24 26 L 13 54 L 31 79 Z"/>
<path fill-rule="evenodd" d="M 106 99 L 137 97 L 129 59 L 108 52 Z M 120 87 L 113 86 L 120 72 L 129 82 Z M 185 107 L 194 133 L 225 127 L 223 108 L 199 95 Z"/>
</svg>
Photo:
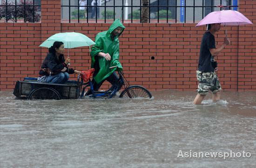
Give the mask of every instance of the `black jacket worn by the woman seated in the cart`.
<svg viewBox="0 0 256 168">
<path fill-rule="evenodd" d="M 57 59 L 57 57 L 52 53 L 47 54 L 41 66 L 41 68 L 49 68 L 53 74 L 60 73 L 64 67 L 67 68 L 66 72 L 68 74 L 74 74 L 74 69 L 67 67 L 63 54 L 61 54 L 59 56 L 59 59 Z M 40 70 L 39 74 L 40 76 L 44 76 L 44 75 L 49 76 L 49 74 L 43 70 Z"/>
</svg>

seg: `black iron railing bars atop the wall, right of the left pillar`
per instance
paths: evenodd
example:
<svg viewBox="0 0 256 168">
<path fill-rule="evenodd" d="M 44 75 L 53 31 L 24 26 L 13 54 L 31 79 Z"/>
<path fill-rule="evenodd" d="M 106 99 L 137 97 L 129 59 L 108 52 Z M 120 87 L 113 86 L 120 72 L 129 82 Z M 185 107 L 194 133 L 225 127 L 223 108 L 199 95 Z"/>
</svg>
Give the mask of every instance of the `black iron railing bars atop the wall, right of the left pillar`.
<svg viewBox="0 0 256 168">
<path fill-rule="evenodd" d="M 76 0 L 75 0 L 76 1 Z M 86 10 L 85 10 L 85 13 L 86 13 L 86 17 L 83 18 L 83 21 L 85 22 L 95 22 L 97 23 L 100 16 L 99 16 L 99 12 L 98 10 L 104 8 L 103 12 L 104 14 L 103 15 L 103 18 L 101 18 L 101 21 L 103 21 L 104 23 L 106 23 L 106 20 L 108 19 L 107 16 L 106 16 L 106 8 L 113 8 L 114 11 L 113 11 L 113 16 L 111 17 L 111 20 L 115 20 L 116 19 L 116 16 L 115 16 L 115 12 L 116 12 L 116 8 L 121 8 L 121 13 L 119 13 L 120 18 L 122 20 L 122 22 L 124 22 L 124 9 L 125 7 L 128 7 L 130 8 L 130 14 L 129 14 L 129 19 L 128 19 L 128 22 L 131 22 L 133 23 L 133 21 L 135 20 L 135 16 L 134 15 L 134 8 L 138 8 L 139 10 L 139 20 L 141 22 L 141 8 L 142 7 L 145 7 L 145 6 L 142 6 L 141 5 L 141 0 L 140 0 L 140 5 L 134 5 L 134 2 L 133 1 L 138 1 L 138 0 L 129 0 L 130 2 L 130 5 L 125 5 L 125 1 L 126 0 L 101 0 L 104 5 L 100 5 L 99 4 L 99 1 L 96 0 L 96 3 L 94 4 L 95 6 L 92 6 L 91 5 L 91 1 L 92 0 L 87 0 L 87 4 L 84 5 L 84 6 L 79 6 L 79 1 L 80 0 L 77 0 L 77 3 L 75 5 L 71 5 L 71 2 L 74 3 L 74 1 L 72 0 L 68 0 L 68 5 L 61 5 L 62 7 L 62 10 L 63 10 L 63 7 L 68 7 L 68 11 L 64 11 L 62 13 L 68 13 L 68 22 L 71 22 L 71 20 L 74 22 L 74 18 L 72 19 L 71 18 L 71 15 L 70 13 L 72 12 L 71 11 L 71 7 L 74 7 L 74 8 L 77 8 L 77 17 L 75 17 L 75 20 L 77 20 L 77 22 L 80 22 L 81 20 L 81 17 L 80 17 L 80 13 L 81 11 L 79 10 L 79 7 L 85 7 Z M 191 13 L 191 15 L 193 14 L 193 20 L 190 20 L 190 22 L 193 21 L 193 23 L 195 23 L 195 12 L 197 9 L 201 9 L 202 10 L 202 16 L 200 18 L 200 20 L 205 16 L 207 15 L 208 13 L 210 12 L 213 12 L 214 11 L 214 8 L 217 7 L 217 5 L 214 5 L 214 0 L 193 0 L 193 5 L 188 5 L 188 2 L 191 3 L 192 0 L 149 0 L 149 17 L 148 17 L 148 22 L 150 23 L 152 20 L 154 20 L 154 22 L 157 22 L 159 23 L 160 20 L 161 23 L 163 22 L 183 22 L 183 23 L 186 23 L 187 22 L 187 18 L 186 18 L 186 13 Z M 195 1 L 198 3 L 198 2 L 201 2 L 202 5 L 196 5 L 195 4 Z M 236 1 L 236 4 L 237 4 L 237 0 L 218 0 L 218 2 L 220 2 L 220 4 L 222 4 L 222 2 L 228 2 L 228 6 L 225 6 L 225 7 L 219 7 L 218 10 L 222 10 L 223 8 L 225 9 L 235 9 L 238 7 L 237 5 L 231 5 L 231 2 L 234 3 L 234 1 Z M 107 3 L 112 3 L 113 5 L 106 5 Z M 116 2 L 119 2 L 120 5 L 117 5 Z M 181 5 L 178 5 L 177 2 L 183 2 Z M 94 9 L 92 9 L 94 8 Z M 192 10 L 189 10 L 188 11 L 188 8 L 192 8 Z M 91 10 L 90 10 L 91 9 Z M 161 10 L 164 10 L 164 12 L 166 13 L 165 14 L 165 17 L 163 18 L 162 16 L 160 16 L 160 12 L 162 13 L 163 11 Z M 170 10 L 171 9 L 171 10 Z M 180 9 L 180 11 L 178 11 L 178 9 Z M 90 12 L 89 12 L 90 11 Z M 101 10 L 102 11 L 102 10 Z M 150 17 L 150 14 L 152 14 L 154 11 L 154 13 L 156 14 L 156 18 L 155 19 L 152 19 Z M 172 11 L 172 12 L 171 12 Z M 178 18 L 178 14 L 181 13 L 181 11 L 183 12 L 183 14 Z M 90 13 L 94 12 L 95 14 L 95 18 L 90 18 Z M 170 13 L 171 14 L 171 17 L 170 17 Z M 181 17 L 182 17 L 182 20 L 181 20 Z M 198 17 L 198 16 L 197 16 Z M 62 17 L 63 18 L 63 17 Z M 137 18 L 138 19 L 138 18 Z M 180 20 L 178 20 L 180 19 Z M 92 21 L 94 20 L 94 21 Z M 156 20 L 156 21 L 155 21 Z M 171 21 L 170 21 L 171 20 Z M 127 21 L 126 21 L 127 22 Z"/>
</svg>

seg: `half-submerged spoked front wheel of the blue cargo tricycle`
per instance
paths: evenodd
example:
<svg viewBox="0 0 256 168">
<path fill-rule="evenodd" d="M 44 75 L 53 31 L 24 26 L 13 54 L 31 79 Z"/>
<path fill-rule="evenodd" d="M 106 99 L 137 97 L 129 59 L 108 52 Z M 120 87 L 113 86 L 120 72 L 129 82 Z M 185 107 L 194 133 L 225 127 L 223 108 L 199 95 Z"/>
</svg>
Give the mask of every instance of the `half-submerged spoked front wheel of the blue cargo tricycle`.
<svg viewBox="0 0 256 168">
<path fill-rule="evenodd" d="M 145 87 L 142 86 L 130 86 L 124 89 L 119 97 L 127 97 L 127 98 L 137 98 L 137 97 L 142 97 L 142 98 L 151 98 L 152 94 L 146 89 Z"/>
</svg>

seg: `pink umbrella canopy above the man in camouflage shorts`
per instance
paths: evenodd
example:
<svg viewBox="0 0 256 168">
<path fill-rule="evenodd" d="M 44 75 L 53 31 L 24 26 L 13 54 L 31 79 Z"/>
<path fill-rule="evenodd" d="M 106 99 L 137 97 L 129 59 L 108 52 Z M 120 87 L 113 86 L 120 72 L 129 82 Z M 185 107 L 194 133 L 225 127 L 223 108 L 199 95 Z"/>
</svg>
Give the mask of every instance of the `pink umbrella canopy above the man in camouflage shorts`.
<svg viewBox="0 0 256 168">
<path fill-rule="evenodd" d="M 205 16 L 196 26 L 212 23 L 221 23 L 222 25 L 246 25 L 253 24 L 242 13 L 234 10 L 222 10 L 211 12 Z"/>
</svg>

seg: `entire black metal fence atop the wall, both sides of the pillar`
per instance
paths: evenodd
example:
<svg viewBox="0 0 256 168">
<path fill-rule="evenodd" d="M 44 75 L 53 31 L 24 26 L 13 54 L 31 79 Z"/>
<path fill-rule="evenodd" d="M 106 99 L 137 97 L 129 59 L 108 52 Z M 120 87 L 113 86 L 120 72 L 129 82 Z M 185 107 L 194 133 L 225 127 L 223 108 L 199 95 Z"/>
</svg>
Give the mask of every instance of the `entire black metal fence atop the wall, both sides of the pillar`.
<svg viewBox="0 0 256 168">
<path fill-rule="evenodd" d="M 63 3 L 65 1 L 67 4 Z M 95 0 L 94 6 L 92 6 L 93 0 L 86 0 L 86 5 L 79 5 L 80 1 L 81 0 L 61 0 L 62 18 L 63 15 L 67 13 L 66 20 L 69 23 L 81 21 L 87 23 L 106 23 L 116 18 L 121 19 L 122 22 L 141 22 L 141 9 L 145 7 L 141 5 L 142 0 Z M 237 0 L 148 1 L 149 23 L 195 23 L 195 21 L 201 20 L 206 14 L 221 10 L 220 7 L 216 7 L 216 3 L 228 3 L 225 9 L 237 10 L 238 7 Z M 0 19 L 4 19 L 6 22 L 8 20 L 12 20 L 13 22 L 17 22 L 17 20 L 24 22 L 40 21 L 40 0 L 1 0 L 1 2 Z M 231 5 L 231 2 L 233 2 L 233 5 Z M 80 10 L 81 7 L 85 8 L 85 10 Z M 107 8 L 113 8 L 113 11 L 108 11 Z M 103 18 L 100 18 L 100 11 Z M 116 11 L 118 12 L 117 16 Z M 72 14 L 74 16 L 73 18 L 71 17 Z M 81 14 L 83 17 L 81 17 Z M 91 18 L 89 18 L 90 16 Z"/>
</svg>

